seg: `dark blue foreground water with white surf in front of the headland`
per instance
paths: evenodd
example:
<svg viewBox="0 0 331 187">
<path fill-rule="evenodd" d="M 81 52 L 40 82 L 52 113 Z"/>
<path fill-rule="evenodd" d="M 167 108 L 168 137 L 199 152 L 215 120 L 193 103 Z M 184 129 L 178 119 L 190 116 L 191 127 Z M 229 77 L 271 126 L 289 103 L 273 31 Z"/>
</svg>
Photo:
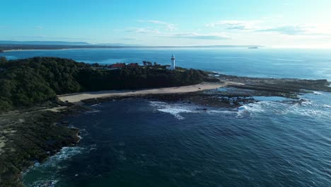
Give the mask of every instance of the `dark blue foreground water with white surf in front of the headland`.
<svg viewBox="0 0 331 187">
<path fill-rule="evenodd" d="M 28 186 L 330 186 L 331 96 L 244 111 L 142 99 L 70 119 L 79 147 L 25 174 Z"/>
</svg>

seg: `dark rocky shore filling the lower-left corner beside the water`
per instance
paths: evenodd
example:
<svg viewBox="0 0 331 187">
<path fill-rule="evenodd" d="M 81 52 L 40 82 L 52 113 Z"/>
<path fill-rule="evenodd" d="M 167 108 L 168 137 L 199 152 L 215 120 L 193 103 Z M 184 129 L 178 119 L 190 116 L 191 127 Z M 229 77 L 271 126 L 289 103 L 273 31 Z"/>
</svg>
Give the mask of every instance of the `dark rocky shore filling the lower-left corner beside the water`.
<svg viewBox="0 0 331 187">
<path fill-rule="evenodd" d="M 57 107 L 65 109 L 39 106 L 0 115 L 0 186 L 23 186 L 23 171 L 79 142 L 79 129 L 61 121 L 86 108 L 65 103 Z"/>
</svg>

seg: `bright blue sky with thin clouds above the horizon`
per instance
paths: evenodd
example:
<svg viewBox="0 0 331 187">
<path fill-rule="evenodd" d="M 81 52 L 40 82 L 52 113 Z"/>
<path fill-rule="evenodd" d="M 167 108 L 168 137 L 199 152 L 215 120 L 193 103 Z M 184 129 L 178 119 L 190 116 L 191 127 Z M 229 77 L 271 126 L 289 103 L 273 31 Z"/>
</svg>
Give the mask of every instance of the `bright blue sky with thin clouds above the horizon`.
<svg viewBox="0 0 331 187">
<path fill-rule="evenodd" d="M 0 1 L 0 40 L 331 48 L 330 0 Z"/>
</svg>

